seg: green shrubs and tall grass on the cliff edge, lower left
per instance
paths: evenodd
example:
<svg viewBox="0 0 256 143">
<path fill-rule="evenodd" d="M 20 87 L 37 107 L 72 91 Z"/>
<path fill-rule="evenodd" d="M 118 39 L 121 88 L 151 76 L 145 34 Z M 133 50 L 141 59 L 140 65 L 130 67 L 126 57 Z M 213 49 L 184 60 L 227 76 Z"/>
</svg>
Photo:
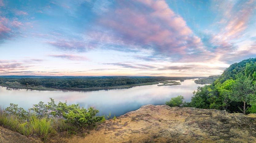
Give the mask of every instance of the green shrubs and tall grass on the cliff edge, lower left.
<svg viewBox="0 0 256 143">
<path fill-rule="evenodd" d="M 85 109 L 78 104 L 55 104 L 50 100 L 48 104 L 41 101 L 28 111 L 12 103 L 5 109 L 0 108 L 0 125 L 25 136 L 37 135 L 45 142 L 56 132 L 74 134 L 93 129 L 97 122 L 105 120 L 104 116 L 96 116 L 99 111 L 92 107 Z"/>
</svg>

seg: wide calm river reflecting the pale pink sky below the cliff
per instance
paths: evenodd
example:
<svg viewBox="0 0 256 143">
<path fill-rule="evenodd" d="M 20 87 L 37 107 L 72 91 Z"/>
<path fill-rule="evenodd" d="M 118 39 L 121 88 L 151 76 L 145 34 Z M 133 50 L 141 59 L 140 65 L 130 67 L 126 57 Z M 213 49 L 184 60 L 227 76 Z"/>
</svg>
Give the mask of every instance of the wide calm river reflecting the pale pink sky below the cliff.
<svg viewBox="0 0 256 143">
<path fill-rule="evenodd" d="M 81 107 L 94 107 L 100 112 L 97 115 L 120 116 L 127 112 L 139 109 L 142 105 L 163 105 L 171 97 L 182 95 L 184 101 L 191 101 L 192 92 L 198 86 L 194 80 L 188 79 L 176 86 L 136 86 L 128 89 L 99 90 L 99 91 L 38 91 L 26 89 L 10 89 L 0 86 L 0 106 L 6 108 L 10 103 L 18 104 L 24 109 L 32 108 L 39 101 L 49 102 L 50 97 L 70 104 L 79 104 Z"/>
</svg>

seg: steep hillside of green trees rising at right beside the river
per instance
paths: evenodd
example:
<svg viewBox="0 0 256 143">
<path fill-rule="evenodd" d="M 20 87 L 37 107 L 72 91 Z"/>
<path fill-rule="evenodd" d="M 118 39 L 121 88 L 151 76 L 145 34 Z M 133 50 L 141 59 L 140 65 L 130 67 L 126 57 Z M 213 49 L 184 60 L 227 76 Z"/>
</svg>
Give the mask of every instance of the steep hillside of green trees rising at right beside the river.
<svg viewBox="0 0 256 143">
<path fill-rule="evenodd" d="M 256 113 L 256 58 L 226 68 L 211 85 L 198 87 L 186 106 Z"/>
</svg>

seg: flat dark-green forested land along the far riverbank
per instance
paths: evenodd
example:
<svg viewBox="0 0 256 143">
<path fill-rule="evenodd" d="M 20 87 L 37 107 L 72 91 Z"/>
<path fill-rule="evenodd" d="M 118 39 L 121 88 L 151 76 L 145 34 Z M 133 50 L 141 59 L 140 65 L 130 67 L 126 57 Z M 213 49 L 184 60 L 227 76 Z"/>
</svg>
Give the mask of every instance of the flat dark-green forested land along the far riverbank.
<svg viewBox="0 0 256 143">
<path fill-rule="evenodd" d="M 0 86 L 31 90 L 94 91 L 163 83 L 179 85 L 186 79 L 205 77 L 165 76 L 0 76 Z M 180 82 L 177 82 L 180 81 Z"/>
</svg>

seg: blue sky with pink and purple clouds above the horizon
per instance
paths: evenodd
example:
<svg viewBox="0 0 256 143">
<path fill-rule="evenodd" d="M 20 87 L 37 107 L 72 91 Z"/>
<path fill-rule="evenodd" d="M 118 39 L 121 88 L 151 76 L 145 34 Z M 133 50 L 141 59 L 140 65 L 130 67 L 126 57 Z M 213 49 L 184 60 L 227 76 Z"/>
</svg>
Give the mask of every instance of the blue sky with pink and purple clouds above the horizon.
<svg viewBox="0 0 256 143">
<path fill-rule="evenodd" d="M 0 75 L 209 76 L 256 57 L 256 0 L 0 0 Z"/>
</svg>

